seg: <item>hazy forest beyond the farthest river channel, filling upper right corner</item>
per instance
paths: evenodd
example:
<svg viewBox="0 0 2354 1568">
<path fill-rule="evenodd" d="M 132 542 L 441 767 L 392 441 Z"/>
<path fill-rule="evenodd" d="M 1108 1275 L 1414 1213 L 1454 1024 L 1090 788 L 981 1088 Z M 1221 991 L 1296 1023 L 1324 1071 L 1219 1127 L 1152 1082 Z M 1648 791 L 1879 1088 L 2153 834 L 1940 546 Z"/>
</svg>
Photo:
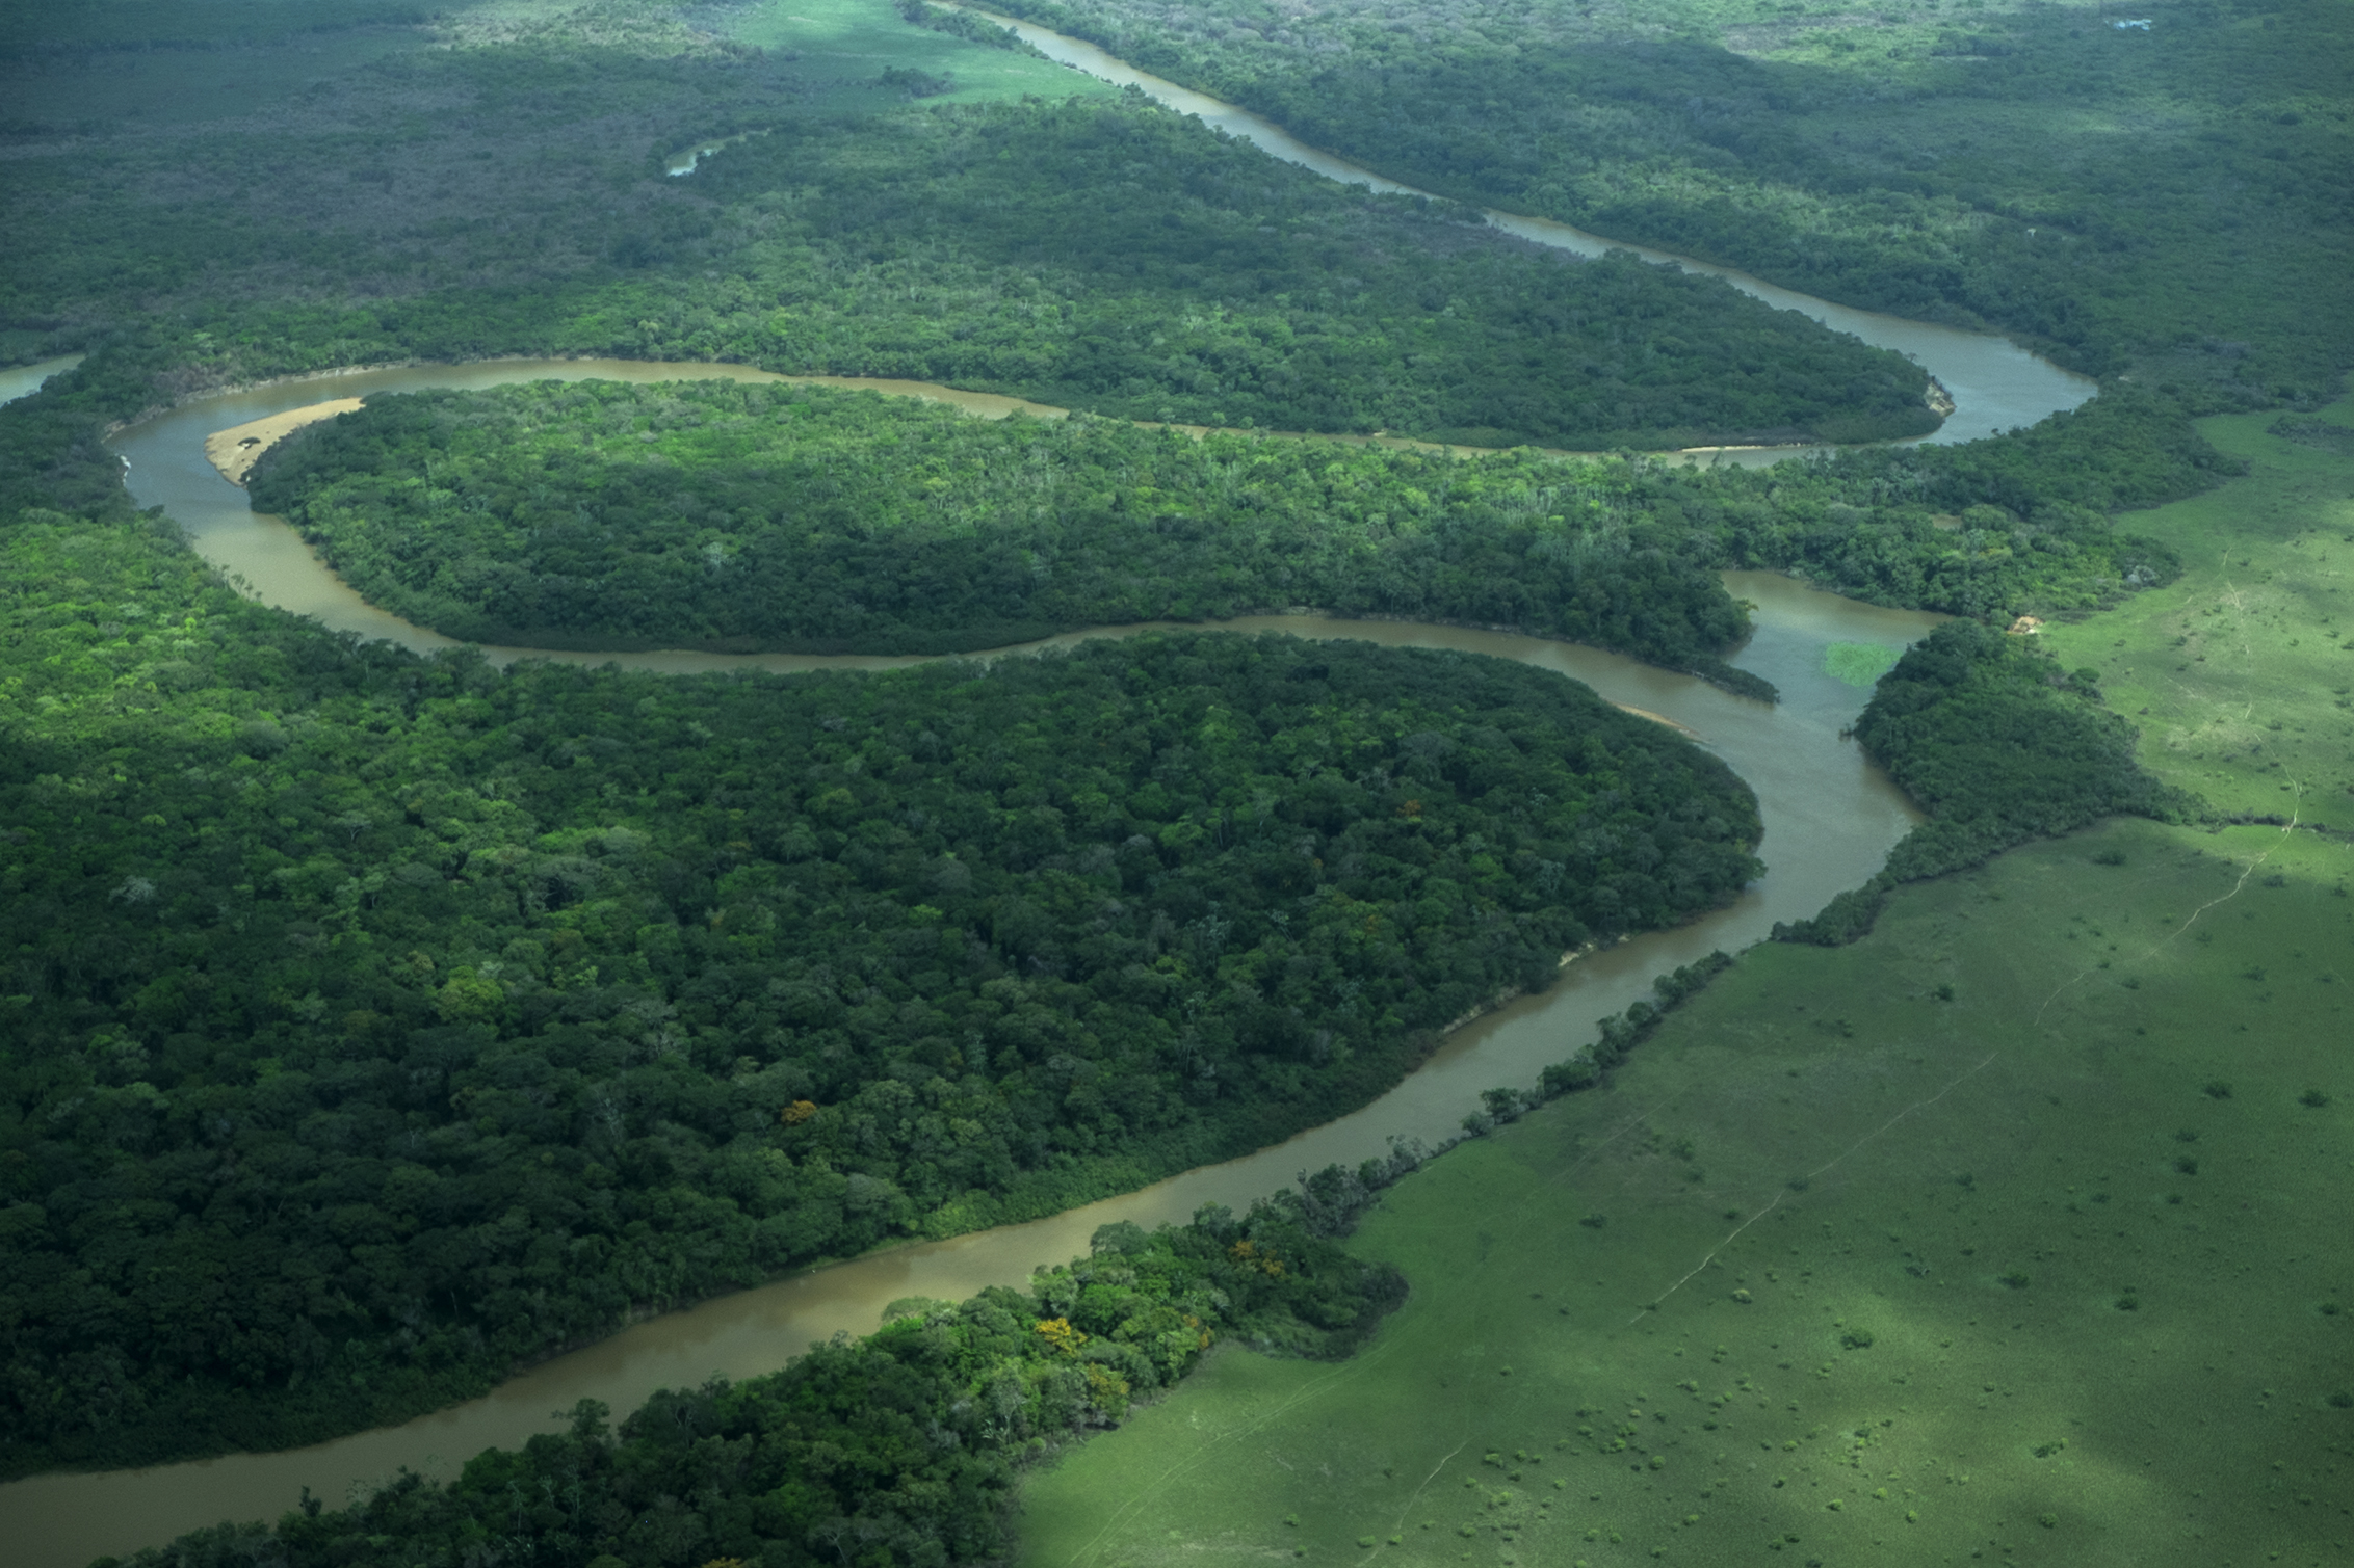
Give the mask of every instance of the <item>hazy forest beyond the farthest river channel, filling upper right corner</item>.
<svg viewBox="0 0 2354 1568">
<path fill-rule="evenodd" d="M 2185 0 L 2144 31 L 2062 5 L 991 9 L 1424 190 L 2027 334 L 2201 409 L 2328 397 L 2354 362 L 2330 0 Z"/>
</svg>

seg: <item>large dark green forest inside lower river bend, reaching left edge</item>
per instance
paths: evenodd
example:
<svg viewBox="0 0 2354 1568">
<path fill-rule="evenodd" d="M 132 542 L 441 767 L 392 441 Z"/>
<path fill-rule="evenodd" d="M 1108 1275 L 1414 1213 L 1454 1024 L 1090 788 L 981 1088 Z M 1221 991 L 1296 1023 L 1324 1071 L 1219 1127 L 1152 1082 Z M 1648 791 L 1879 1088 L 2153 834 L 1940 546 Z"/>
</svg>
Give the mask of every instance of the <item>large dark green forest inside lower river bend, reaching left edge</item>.
<svg viewBox="0 0 2354 1568">
<path fill-rule="evenodd" d="M 374 1425 L 1262 1147 L 1756 872 L 1723 764 L 1504 661 L 497 672 L 158 536 L 9 548 L 9 1469 Z"/>
</svg>

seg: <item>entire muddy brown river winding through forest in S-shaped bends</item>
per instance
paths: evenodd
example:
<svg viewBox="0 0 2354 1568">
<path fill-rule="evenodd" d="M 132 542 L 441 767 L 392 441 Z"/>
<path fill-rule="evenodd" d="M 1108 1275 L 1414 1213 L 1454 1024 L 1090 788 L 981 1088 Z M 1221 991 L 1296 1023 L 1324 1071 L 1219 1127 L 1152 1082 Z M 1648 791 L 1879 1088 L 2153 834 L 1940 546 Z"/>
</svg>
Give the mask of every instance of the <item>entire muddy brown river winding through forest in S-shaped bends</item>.
<svg viewBox="0 0 2354 1568">
<path fill-rule="evenodd" d="M 1005 19 L 998 19 L 1005 21 Z M 1029 24 L 1005 21 L 1026 40 L 1092 75 L 1132 82 L 1163 103 L 1196 113 L 1245 136 L 1276 158 L 1332 179 L 1377 190 L 1412 193 L 1408 186 L 1306 148 L 1255 115 L 1215 99 L 1149 78 L 1092 45 L 1059 38 Z M 1492 223 L 1528 240 L 1601 254 L 1612 242 L 1561 223 L 1488 214 Z M 1617 247 L 1634 249 L 1634 247 Z M 1956 414 L 1928 440 L 1973 440 L 2013 425 L 2032 425 L 2053 411 L 2081 404 L 2093 383 L 2036 360 L 2003 339 L 1907 322 L 1817 301 L 1773 284 L 1655 252 L 1650 261 L 1674 261 L 1725 277 L 1775 306 L 1803 310 L 1867 343 L 1895 348 L 1919 360 L 1954 397 Z M 64 369 L 68 362 L 35 367 Z M 365 637 L 386 637 L 431 651 L 452 646 L 447 637 L 388 616 L 346 588 L 282 522 L 254 515 L 245 491 L 207 463 L 205 435 L 247 421 L 334 397 L 363 397 L 419 388 L 480 388 L 537 378 L 742 378 L 782 381 L 739 364 L 645 364 L 610 360 L 504 360 L 459 367 L 398 367 L 311 376 L 186 402 L 115 437 L 127 461 L 127 482 L 139 505 L 162 505 L 188 531 L 191 543 L 257 597 L 294 614 Z M 0 400 L 38 386 L 35 374 L 0 381 Z M 913 383 L 855 383 L 885 393 L 932 395 L 972 414 L 1003 416 L 1017 400 L 920 388 Z M 1040 409 L 1045 411 L 1045 409 Z M 1725 454 L 1735 461 L 1775 461 L 1782 451 Z M 638 1406 L 659 1387 L 699 1382 L 713 1373 L 744 1378 L 782 1366 L 807 1342 L 836 1331 L 864 1333 L 880 1309 L 904 1295 L 965 1298 L 989 1284 L 1015 1284 L 1033 1265 L 1085 1251 L 1097 1225 L 1135 1220 L 1161 1225 L 1184 1220 L 1201 1204 L 1245 1206 L 1285 1185 L 1304 1168 L 1330 1161 L 1356 1164 L 1382 1154 L 1391 1138 L 1448 1138 L 1478 1091 L 1499 1084 L 1532 1084 L 1594 1037 L 1594 1023 L 1648 994 L 1650 980 L 1711 947 L 1740 950 L 1761 940 L 1773 922 L 1820 910 L 1834 893 L 1878 870 L 1888 849 L 1916 820 L 1904 797 L 1874 769 L 1841 731 L 1864 703 L 1864 691 L 1824 672 L 1834 642 L 1871 642 L 1900 649 L 1921 637 L 1935 616 L 1874 609 L 1817 592 L 1773 574 L 1728 574 L 1735 595 L 1756 604 L 1756 635 L 1735 658 L 1782 689 L 1775 708 L 1749 703 L 1685 675 L 1601 654 L 1594 649 L 1478 632 L 1462 628 L 1387 621 L 1332 621 L 1323 616 L 1257 616 L 1226 623 L 1231 630 L 1278 630 L 1302 637 L 1363 637 L 1391 646 L 1438 646 L 1518 658 L 1582 679 L 1601 696 L 1641 708 L 1685 726 L 1721 755 L 1758 795 L 1766 820 L 1761 856 L 1768 872 L 1742 898 L 1678 931 L 1636 938 L 1572 964 L 1542 997 L 1511 1001 L 1459 1030 L 1408 1081 L 1365 1110 L 1302 1133 L 1285 1145 L 1170 1178 L 1128 1197 L 1090 1204 L 1071 1213 L 1010 1225 L 953 1241 L 904 1246 L 873 1258 L 812 1269 L 758 1291 L 727 1295 L 701 1307 L 638 1324 L 600 1345 L 546 1361 L 501 1385 L 485 1399 L 419 1418 L 403 1427 L 363 1432 L 334 1443 L 287 1453 L 228 1455 L 144 1472 L 92 1476 L 35 1476 L 0 1486 L 0 1542 L 12 1568 L 80 1568 L 101 1554 L 160 1544 L 221 1519 L 275 1519 L 294 1507 L 301 1488 L 339 1502 L 400 1467 L 452 1474 L 487 1446 L 513 1446 L 532 1432 L 556 1429 L 558 1410 L 577 1399 L 603 1399 L 614 1410 Z M 1142 628 L 1073 632 L 1036 646 L 1118 637 Z M 890 668 L 906 658 L 810 658 L 720 654 L 537 654 L 487 649 L 492 661 L 565 658 L 572 663 L 619 663 L 640 670 L 699 672 L 760 668 L 796 672 L 812 668 Z"/>
</svg>

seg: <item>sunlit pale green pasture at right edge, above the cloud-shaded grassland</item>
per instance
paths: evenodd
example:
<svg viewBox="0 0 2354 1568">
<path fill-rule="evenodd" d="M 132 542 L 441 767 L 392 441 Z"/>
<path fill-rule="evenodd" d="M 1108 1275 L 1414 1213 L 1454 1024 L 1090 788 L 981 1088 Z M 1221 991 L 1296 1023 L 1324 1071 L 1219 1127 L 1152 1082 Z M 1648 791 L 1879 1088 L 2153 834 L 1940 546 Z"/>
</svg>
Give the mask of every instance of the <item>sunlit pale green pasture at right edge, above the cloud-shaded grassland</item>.
<svg viewBox="0 0 2354 1568">
<path fill-rule="evenodd" d="M 2173 545 L 2182 578 L 2043 635 L 2100 670 L 2168 783 L 2227 813 L 2354 827 L 2354 400 L 2201 430 L 2250 473 L 2119 522 Z"/>
</svg>

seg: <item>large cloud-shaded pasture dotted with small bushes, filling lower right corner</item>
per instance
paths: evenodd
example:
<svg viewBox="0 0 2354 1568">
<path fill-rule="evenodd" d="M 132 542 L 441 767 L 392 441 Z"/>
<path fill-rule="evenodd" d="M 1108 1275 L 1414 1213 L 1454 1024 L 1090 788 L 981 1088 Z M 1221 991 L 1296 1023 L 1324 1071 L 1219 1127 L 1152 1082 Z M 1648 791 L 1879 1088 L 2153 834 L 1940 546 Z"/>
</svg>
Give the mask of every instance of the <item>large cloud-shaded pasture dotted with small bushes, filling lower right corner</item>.
<svg viewBox="0 0 2354 1568">
<path fill-rule="evenodd" d="M 1391 1190 L 1368 1352 L 1215 1356 L 1024 1561 L 2347 1561 L 2354 900 L 2288 844 L 2121 820 L 1749 952 Z"/>
</svg>

